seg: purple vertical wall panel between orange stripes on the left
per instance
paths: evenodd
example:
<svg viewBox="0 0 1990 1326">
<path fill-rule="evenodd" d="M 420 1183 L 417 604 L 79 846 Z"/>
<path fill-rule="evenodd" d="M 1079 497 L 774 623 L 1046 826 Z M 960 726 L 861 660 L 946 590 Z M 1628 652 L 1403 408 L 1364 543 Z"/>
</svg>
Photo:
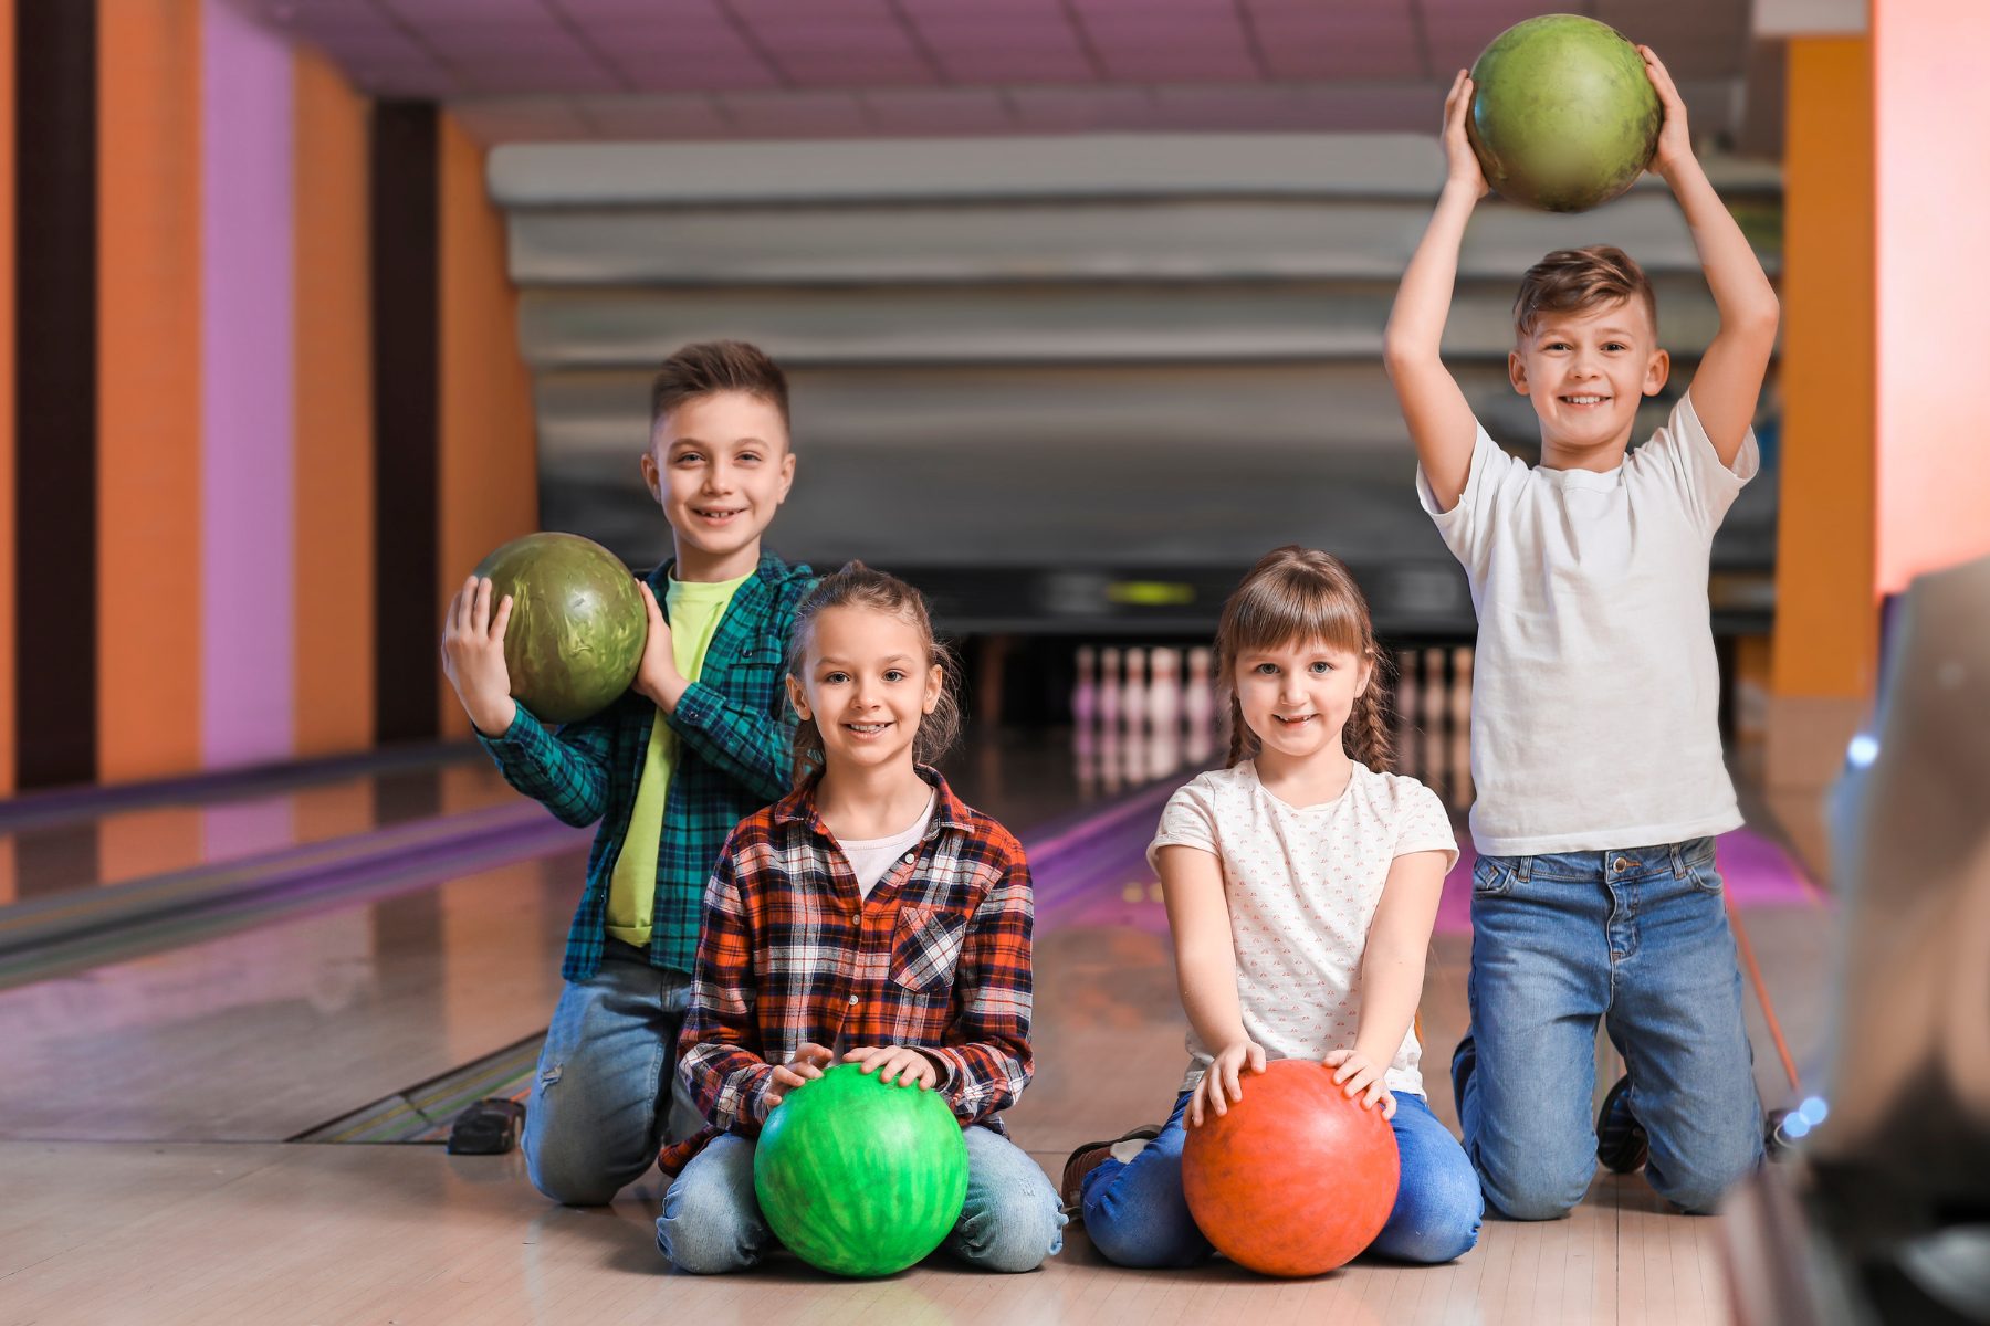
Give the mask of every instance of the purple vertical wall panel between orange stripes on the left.
<svg viewBox="0 0 1990 1326">
<path fill-rule="evenodd" d="M 201 755 L 293 753 L 289 48 L 201 6 Z"/>
</svg>

